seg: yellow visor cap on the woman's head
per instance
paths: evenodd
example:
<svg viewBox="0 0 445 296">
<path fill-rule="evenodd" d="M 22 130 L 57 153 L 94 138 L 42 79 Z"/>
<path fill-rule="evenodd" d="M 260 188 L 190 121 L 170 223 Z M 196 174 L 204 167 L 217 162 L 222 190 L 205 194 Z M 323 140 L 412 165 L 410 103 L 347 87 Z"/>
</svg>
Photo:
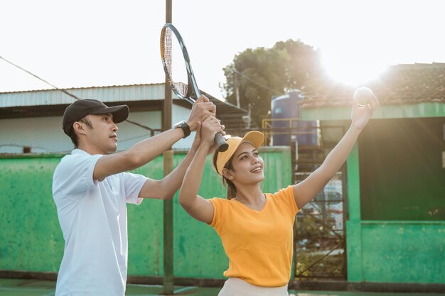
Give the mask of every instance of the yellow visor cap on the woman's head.
<svg viewBox="0 0 445 296">
<path fill-rule="evenodd" d="M 223 168 L 227 161 L 230 160 L 232 155 L 237 150 L 238 146 L 240 146 L 241 143 L 244 142 L 250 142 L 254 146 L 254 148 L 259 148 L 259 146 L 262 146 L 262 143 L 264 142 L 264 134 L 260 131 L 250 131 L 246 133 L 246 135 L 242 138 L 240 137 L 232 137 L 227 139 L 227 144 L 229 144 L 229 148 L 225 150 L 224 152 L 218 152 L 218 156 L 216 158 L 216 171 L 218 174 L 221 175 L 221 172 L 223 171 Z"/>
</svg>

